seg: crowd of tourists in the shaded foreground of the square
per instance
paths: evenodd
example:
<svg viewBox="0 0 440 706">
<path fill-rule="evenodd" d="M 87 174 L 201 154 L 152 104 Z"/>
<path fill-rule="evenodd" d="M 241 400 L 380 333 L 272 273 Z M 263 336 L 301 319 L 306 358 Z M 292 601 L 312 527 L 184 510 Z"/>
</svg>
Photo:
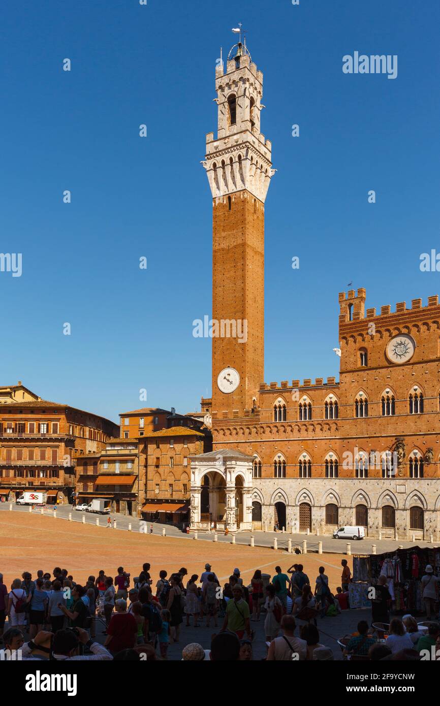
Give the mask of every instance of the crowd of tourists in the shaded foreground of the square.
<svg viewBox="0 0 440 706">
<path fill-rule="evenodd" d="M 342 567 L 335 594 L 324 567 L 311 582 L 302 564 L 287 573 L 276 566 L 270 580 L 256 570 L 249 585 L 239 568 L 220 585 L 209 563 L 200 576 L 189 576 L 184 567 L 170 576 L 160 570 L 155 583 L 149 563 L 133 578 L 119 566 L 116 575 L 100 570 L 84 585 L 67 569 L 55 567 L 52 573 L 37 571 L 35 579 L 25 572 L 8 590 L 0 574 L 0 659 L 14 659 L 18 650 L 20 659 L 27 660 L 167 659 L 170 643 L 180 642 L 182 626 L 192 621 L 194 628 L 212 627 L 215 634 L 209 650 L 199 642 L 184 645 L 184 661 L 249 661 L 254 659 L 254 626 L 263 618 L 265 659 L 333 660 L 333 650 L 321 642 L 317 618 L 349 608 L 351 575 L 345 559 Z M 383 630 L 360 621 L 340 645 L 344 657 L 420 659 L 428 651 L 436 659 L 439 650 L 440 659 L 439 623 L 422 629 L 410 615 L 390 622 L 391 597 L 383 578 L 375 588 L 372 623 L 379 620 Z M 96 639 L 97 630 L 104 644 Z"/>
</svg>

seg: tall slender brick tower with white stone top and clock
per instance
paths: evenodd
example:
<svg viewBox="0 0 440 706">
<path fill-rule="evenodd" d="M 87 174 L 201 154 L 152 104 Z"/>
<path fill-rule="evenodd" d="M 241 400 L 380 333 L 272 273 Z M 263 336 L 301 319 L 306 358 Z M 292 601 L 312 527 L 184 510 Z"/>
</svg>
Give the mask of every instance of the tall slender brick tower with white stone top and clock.
<svg viewBox="0 0 440 706">
<path fill-rule="evenodd" d="M 215 419 L 242 417 L 264 379 L 264 202 L 272 145 L 260 131 L 263 74 L 246 42 L 215 69 L 218 136 L 206 136 L 213 195 L 213 399 Z"/>
</svg>

